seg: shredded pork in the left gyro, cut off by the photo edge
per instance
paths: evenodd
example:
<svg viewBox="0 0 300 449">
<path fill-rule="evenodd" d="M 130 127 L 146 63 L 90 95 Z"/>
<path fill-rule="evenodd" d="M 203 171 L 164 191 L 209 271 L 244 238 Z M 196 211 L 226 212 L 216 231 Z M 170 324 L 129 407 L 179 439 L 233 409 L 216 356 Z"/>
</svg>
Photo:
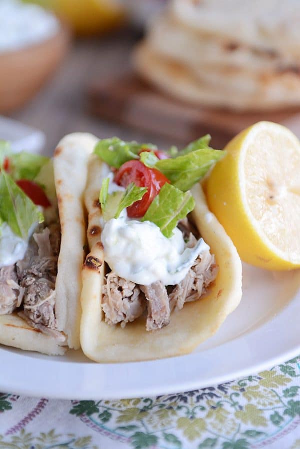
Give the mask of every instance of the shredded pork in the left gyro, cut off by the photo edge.
<svg viewBox="0 0 300 449">
<path fill-rule="evenodd" d="M 60 228 L 38 227 L 22 260 L 0 268 L 0 314 L 18 309 L 32 327 L 58 336 L 55 320 L 55 280 L 60 247 Z"/>
</svg>

